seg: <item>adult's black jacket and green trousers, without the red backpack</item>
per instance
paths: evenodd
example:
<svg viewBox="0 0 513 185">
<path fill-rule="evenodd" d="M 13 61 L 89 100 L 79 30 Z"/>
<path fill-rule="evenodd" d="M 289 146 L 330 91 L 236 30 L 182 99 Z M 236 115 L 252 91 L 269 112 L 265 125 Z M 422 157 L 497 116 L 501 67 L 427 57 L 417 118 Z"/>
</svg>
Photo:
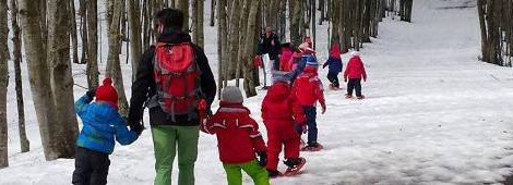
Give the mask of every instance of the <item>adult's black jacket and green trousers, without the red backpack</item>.
<svg viewBox="0 0 513 185">
<path fill-rule="evenodd" d="M 179 29 L 168 28 L 160 33 L 157 42 L 191 44 L 191 37 Z M 208 66 L 203 49 L 191 44 L 194 59 L 200 74 L 200 88 L 206 100 L 206 112 L 211 112 L 211 104 L 216 94 L 214 75 Z M 138 66 L 135 81 L 132 84 L 132 98 L 130 99 L 129 123 L 140 125 L 143 119 L 144 106 L 150 109 L 150 124 L 155 149 L 155 185 L 169 185 L 171 182 L 172 162 L 178 151 L 178 184 L 194 184 L 194 162 L 198 157 L 198 137 L 200 113 L 193 110 L 188 114 L 177 114 L 172 119 L 164 112 L 158 103 L 157 86 L 154 76 L 155 47 L 152 46 L 142 57 Z M 150 100 L 148 100 L 150 99 Z M 148 100 L 148 101 L 147 101 Z"/>
</svg>

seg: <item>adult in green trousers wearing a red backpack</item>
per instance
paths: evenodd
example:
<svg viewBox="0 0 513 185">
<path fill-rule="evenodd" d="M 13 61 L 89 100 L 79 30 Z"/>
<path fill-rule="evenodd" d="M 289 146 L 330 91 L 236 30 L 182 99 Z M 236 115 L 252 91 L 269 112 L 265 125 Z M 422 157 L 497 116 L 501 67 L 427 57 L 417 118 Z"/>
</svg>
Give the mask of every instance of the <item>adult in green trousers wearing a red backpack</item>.
<svg viewBox="0 0 513 185">
<path fill-rule="evenodd" d="M 155 185 L 171 184 L 171 168 L 177 153 L 178 184 L 192 185 L 194 184 L 194 162 L 198 157 L 198 126 L 201 120 L 196 101 L 200 99 L 206 100 L 205 111 L 211 112 L 210 104 L 216 94 L 215 79 L 203 49 L 192 44 L 189 34 L 182 32 L 183 13 L 176 9 L 164 9 L 157 12 L 155 20 L 157 21 L 155 28 L 159 33 L 158 44 L 150 47 L 144 52 L 138 66 L 135 81 L 132 84 L 129 125 L 131 127 L 143 127 L 141 121 L 144 108 L 145 106 L 150 108 L 150 124 L 152 126 L 156 159 L 155 170 L 157 174 Z M 187 78 L 194 81 L 186 81 L 182 87 L 177 85 L 181 83 L 170 83 L 171 79 L 176 82 L 176 78 L 180 77 L 179 75 L 163 75 L 163 73 L 157 73 L 159 70 L 162 72 L 164 66 L 169 67 L 171 65 L 172 67 L 174 63 L 169 61 L 174 60 L 163 61 L 168 58 L 156 58 L 154 60 L 155 53 L 160 51 L 157 49 L 163 49 L 164 47 L 169 51 L 166 53 L 171 53 L 172 58 L 174 52 L 170 52 L 170 49 L 175 46 L 190 46 L 190 48 L 180 50 L 183 53 L 178 55 L 186 55 L 187 58 L 187 54 L 191 54 L 191 52 L 187 51 L 192 49 L 193 55 L 189 57 L 194 59 L 193 62 L 198 66 L 194 70 L 199 71 L 199 73 L 194 73 L 198 76 Z M 155 65 L 154 62 L 158 62 L 158 64 L 164 63 L 165 65 Z M 158 81 L 156 81 L 157 78 Z M 199 81 L 195 81 L 196 78 Z M 198 87 L 198 89 L 191 90 L 191 87 Z M 178 97 L 169 89 L 180 89 L 184 92 Z M 181 107 L 175 104 L 181 104 Z M 189 108 L 187 109 L 189 112 L 180 111 L 183 104 Z"/>
</svg>

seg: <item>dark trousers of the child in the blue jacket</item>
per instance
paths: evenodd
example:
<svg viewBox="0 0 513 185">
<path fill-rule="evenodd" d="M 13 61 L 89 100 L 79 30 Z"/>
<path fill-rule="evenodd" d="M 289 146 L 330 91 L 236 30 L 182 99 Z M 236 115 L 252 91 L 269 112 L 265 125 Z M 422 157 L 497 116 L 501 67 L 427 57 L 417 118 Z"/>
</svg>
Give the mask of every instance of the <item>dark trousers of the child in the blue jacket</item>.
<svg viewBox="0 0 513 185">
<path fill-rule="evenodd" d="M 109 155 L 76 147 L 75 171 L 72 184 L 74 185 L 105 185 L 109 173 Z"/>
</svg>

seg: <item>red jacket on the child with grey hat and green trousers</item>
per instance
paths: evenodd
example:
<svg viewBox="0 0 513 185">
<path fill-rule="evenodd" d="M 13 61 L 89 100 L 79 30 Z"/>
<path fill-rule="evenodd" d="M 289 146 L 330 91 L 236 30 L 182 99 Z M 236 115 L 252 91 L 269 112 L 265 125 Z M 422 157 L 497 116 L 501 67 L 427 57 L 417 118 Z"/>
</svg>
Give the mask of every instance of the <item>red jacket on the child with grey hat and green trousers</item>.
<svg viewBox="0 0 513 185">
<path fill-rule="evenodd" d="M 201 126 L 216 134 L 219 159 L 224 163 L 243 163 L 255 159 L 255 152 L 266 151 L 259 124 L 241 103 L 219 103 L 217 112 Z"/>
</svg>

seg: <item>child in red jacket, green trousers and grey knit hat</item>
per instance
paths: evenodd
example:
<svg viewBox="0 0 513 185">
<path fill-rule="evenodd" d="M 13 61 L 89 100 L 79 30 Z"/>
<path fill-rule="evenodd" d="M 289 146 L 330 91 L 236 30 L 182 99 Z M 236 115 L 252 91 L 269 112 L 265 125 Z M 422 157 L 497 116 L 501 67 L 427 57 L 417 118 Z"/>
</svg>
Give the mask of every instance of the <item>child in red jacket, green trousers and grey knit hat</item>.
<svg viewBox="0 0 513 185">
<path fill-rule="evenodd" d="M 225 168 L 228 185 L 242 184 L 243 170 L 255 185 L 269 185 L 267 155 L 259 124 L 250 118 L 250 111 L 242 106 L 239 88 L 223 89 L 219 109 L 201 125 L 201 130 L 217 136 L 219 159 Z M 260 160 L 256 160 L 256 156 Z"/>
</svg>

